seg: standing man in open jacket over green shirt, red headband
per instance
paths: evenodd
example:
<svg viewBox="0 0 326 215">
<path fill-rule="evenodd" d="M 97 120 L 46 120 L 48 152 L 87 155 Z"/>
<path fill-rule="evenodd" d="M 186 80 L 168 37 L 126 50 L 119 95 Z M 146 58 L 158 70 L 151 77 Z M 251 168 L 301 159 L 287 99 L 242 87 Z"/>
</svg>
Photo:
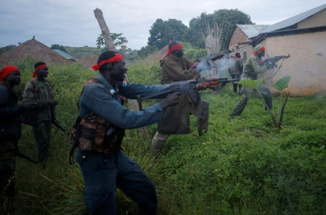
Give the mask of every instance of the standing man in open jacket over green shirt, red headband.
<svg viewBox="0 0 326 215">
<path fill-rule="evenodd" d="M 48 159 L 48 147 L 51 140 L 51 121 L 56 118 L 55 106 L 58 101 L 54 99 L 52 86 L 46 79 L 48 68 L 44 62 L 37 62 L 34 65 L 33 78 L 25 85 L 23 101 L 34 101 L 38 103 L 32 122 L 35 141 L 38 146 L 39 163 L 44 168 Z"/>
</svg>

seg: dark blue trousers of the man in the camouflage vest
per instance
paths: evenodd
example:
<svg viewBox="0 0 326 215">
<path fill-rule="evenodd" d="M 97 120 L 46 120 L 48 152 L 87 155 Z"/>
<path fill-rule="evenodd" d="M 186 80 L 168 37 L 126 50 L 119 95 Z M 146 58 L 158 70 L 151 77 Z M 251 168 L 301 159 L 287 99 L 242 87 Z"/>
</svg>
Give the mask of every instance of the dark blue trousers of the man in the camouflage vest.
<svg viewBox="0 0 326 215">
<path fill-rule="evenodd" d="M 116 214 L 116 187 L 138 202 L 141 214 L 156 214 L 153 182 L 121 151 L 106 155 L 79 149 L 76 161 L 82 170 L 85 204 L 90 214 Z"/>
</svg>

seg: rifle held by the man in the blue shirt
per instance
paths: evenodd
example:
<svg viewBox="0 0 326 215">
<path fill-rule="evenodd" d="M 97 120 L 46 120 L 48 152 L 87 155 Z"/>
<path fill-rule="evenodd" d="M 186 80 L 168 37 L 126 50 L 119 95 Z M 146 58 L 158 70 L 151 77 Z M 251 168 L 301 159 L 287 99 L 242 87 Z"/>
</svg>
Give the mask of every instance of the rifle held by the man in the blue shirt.
<svg viewBox="0 0 326 215">
<path fill-rule="evenodd" d="M 169 93 L 174 93 L 174 92 L 181 92 L 181 93 L 187 93 L 189 90 L 204 90 L 206 87 L 213 87 L 220 85 L 221 88 L 225 86 L 226 83 L 229 82 L 236 82 L 240 80 L 240 78 L 235 78 L 235 79 L 228 79 L 226 77 L 200 77 L 197 79 L 191 79 L 191 80 L 182 80 L 181 82 L 172 82 L 170 84 L 169 90 L 156 93 L 150 96 L 146 96 L 141 98 L 138 96 L 138 105 L 139 105 L 139 110 L 142 110 L 142 102 L 145 99 L 150 99 L 150 98 L 157 98 L 160 97 L 161 95 L 167 95 Z M 204 88 L 203 88 L 204 87 Z"/>
</svg>

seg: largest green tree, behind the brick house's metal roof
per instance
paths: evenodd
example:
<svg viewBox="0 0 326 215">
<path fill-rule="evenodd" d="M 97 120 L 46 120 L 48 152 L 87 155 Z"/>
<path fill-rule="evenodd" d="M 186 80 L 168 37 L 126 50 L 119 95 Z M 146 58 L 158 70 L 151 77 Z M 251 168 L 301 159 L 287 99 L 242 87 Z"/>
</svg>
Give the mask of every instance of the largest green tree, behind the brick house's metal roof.
<svg viewBox="0 0 326 215">
<path fill-rule="evenodd" d="M 236 24 L 254 24 L 248 14 L 238 9 L 221 9 L 214 11 L 213 14 L 202 13 L 200 16 L 189 21 L 189 28 L 183 35 L 183 40 L 189 41 L 197 47 L 204 48 L 205 43 L 202 34 L 207 36 L 206 23 L 212 27 L 214 21 L 222 26 L 221 46 L 223 49 L 229 47 Z"/>
</svg>

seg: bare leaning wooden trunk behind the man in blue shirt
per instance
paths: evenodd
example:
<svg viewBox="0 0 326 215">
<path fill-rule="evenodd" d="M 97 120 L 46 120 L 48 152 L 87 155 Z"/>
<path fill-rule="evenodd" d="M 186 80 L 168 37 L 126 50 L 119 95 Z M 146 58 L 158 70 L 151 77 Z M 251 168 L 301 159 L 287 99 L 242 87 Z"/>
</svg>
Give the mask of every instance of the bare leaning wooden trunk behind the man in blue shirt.
<svg viewBox="0 0 326 215">
<path fill-rule="evenodd" d="M 110 30 L 108 29 L 106 22 L 103 17 L 103 13 L 100 9 L 96 8 L 94 10 L 95 17 L 98 21 L 98 24 L 100 25 L 100 29 L 105 41 L 105 47 L 107 50 L 110 51 L 116 51 L 116 46 L 113 43 L 113 40 L 111 38 Z M 128 82 L 127 74 L 125 74 L 125 80 Z M 136 100 L 128 100 L 128 105 L 132 111 L 139 111 L 138 103 Z M 139 135 L 143 140 L 146 140 L 149 137 L 149 133 L 147 130 L 147 127 L 139 128 Z"/>
</svg>

